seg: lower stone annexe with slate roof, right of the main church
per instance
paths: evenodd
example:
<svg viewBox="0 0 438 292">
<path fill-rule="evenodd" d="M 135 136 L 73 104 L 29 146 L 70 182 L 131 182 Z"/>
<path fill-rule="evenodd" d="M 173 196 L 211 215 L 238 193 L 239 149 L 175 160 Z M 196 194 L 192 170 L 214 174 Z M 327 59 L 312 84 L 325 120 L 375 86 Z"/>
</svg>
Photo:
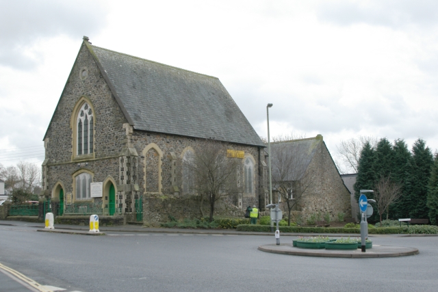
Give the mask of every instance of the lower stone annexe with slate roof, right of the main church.
<svg viewBox="0 0 438 292">
<path fill-rule="evenodd" d="M 337 221 L 339 213 L 343 213 L 345 219 L 351 217 L 350 191 L 322 135 L 274 142 L 271 144 L 271 156 L 273 189 L 287 183 L 292 187 L 289 200 L 296 203 L 292 212 L 294 221 L 297 221 L 296 216 L 300 216 L 305 223 L 311 215 L 318 214 L 329 214 L 332 221 Z M 294 187 L 296 182 L 300 187 Z M 276 196 L 273 199 L 276 200 Z M 287 213 L 284 200 L 281 207 Z"/>
</svg>

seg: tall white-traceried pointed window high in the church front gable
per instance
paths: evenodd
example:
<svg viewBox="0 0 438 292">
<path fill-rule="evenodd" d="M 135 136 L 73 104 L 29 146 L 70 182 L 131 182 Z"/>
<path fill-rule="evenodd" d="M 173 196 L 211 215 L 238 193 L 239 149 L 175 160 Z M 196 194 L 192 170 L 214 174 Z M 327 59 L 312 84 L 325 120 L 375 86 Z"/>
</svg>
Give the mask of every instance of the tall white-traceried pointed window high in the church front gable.
<svg viewBox="0 0 438 292">
<path fill-rule="evenodd" d="M 93 111 L 84 103 L 77 114 L 77 155 L 91 154 L 94 150 Z"/>
</svg>

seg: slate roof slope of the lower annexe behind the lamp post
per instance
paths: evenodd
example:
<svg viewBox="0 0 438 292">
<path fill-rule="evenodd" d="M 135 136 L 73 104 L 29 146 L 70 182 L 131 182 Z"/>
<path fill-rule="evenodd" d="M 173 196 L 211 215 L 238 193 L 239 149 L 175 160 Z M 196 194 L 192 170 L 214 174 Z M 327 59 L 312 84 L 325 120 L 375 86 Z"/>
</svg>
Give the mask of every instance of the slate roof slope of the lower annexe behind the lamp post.
<svg viewBox="0 0 438 292">
<path fill-rule="evenodd" d="M 279 157 L 277 157 L 277 153 L 281 155 L 281 151 L 283 151 L 280 150 L 281 148 L 288 152 L 288 155 L 292 155 L 292 157 L 294 157 L 294 166 L 290 169 L 290 172 L 287 172 L 288 177 L 285 178 L 285 181 L 296 181 L 304 176 L 307 168 L 309 168 L 309 164 L 311 163 L 313 156 L 315 156 L 316 149 L 321 143 L 323 143 L 321 135 L 300 140 L 271 143 L 272 177 L 280 177 L 278 174 L 276 174 L 274 165 L 275 163 L 278 163 L 277 161 Z"/>
</svg>

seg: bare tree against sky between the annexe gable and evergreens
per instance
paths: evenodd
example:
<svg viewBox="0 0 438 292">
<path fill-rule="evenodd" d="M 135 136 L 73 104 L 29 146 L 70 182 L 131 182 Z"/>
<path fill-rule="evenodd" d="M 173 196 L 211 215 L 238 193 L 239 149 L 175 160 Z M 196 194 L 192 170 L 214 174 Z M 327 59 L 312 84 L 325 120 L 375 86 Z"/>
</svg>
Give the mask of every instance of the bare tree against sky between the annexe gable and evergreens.
<svg viewBox="0 0 438 292">
<path fill-rule="evenodd" d="M 377 138 L 374 136 L 359 136 L 357 138 L 342 140 L 341 143 L 336 146 L 339 159 L 336 159 L 335 164 L 339 172 L 342 174 L 349 172 L 357 173 L 361 151 L 367 142 L 375 146 L 377 144 Z"/>
</svg>

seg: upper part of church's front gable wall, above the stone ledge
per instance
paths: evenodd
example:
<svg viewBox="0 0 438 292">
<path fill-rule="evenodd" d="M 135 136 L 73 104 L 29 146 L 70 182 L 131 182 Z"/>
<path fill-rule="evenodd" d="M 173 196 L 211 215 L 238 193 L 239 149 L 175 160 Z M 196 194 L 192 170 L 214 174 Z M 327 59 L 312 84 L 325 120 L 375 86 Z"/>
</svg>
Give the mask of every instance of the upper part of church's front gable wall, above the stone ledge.
<svg viewBox="0 0 438 292">
<path fill-rule="evenodd" d="M 116 156 L 126 138 L 123 112 L 88 49 L 83 45 L 62 92 L 60 102 L 46 137 L 46 158 L 50 164 L 72 160 L 73 131 L 71 120 L 77 102 L 84 96 L 94 109 L 94 155 L 92 158 Z M 77 157 L 79 158 L 79 157 Z"/>
</svg>

